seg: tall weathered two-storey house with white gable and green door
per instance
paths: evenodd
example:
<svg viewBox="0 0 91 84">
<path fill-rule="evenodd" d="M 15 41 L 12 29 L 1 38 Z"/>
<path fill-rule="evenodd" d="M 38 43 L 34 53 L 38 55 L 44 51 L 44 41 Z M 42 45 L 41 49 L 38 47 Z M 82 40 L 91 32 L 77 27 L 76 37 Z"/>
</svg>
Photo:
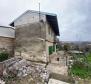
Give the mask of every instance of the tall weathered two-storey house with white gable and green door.
<svg viewBox="0 0 91 84">
<path fill-rule="evenodd" d="M 15 27 L 15 55 L 32 61 L 50 61 L 59 36 L 56 14 L 28 10 L 10 26 Z"/>
</svg>

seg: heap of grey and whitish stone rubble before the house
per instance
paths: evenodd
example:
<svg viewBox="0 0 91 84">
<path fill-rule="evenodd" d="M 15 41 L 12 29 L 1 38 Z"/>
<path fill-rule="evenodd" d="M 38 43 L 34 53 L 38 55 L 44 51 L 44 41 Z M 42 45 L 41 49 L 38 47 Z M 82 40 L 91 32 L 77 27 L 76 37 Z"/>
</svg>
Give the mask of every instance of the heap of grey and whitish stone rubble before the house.
<svg viewBox="0 0 91 84">
<path fill-rule="evenodd" d="M 33 80 L 37 81 L 37 83 L 38 81 L 41 81 L 42 84 L 49 80 L 49 72 L 45 68 L 45 64 L 18 59 L 16 61 L 9 60 L 8 65 L 7 62 L 4 63 L 4 65 L 6 66 L 3 72 L 4 76 L 9 75 L 10 73 L 13 73 L 18 78 L 31 75 Z"/>
</svg>

